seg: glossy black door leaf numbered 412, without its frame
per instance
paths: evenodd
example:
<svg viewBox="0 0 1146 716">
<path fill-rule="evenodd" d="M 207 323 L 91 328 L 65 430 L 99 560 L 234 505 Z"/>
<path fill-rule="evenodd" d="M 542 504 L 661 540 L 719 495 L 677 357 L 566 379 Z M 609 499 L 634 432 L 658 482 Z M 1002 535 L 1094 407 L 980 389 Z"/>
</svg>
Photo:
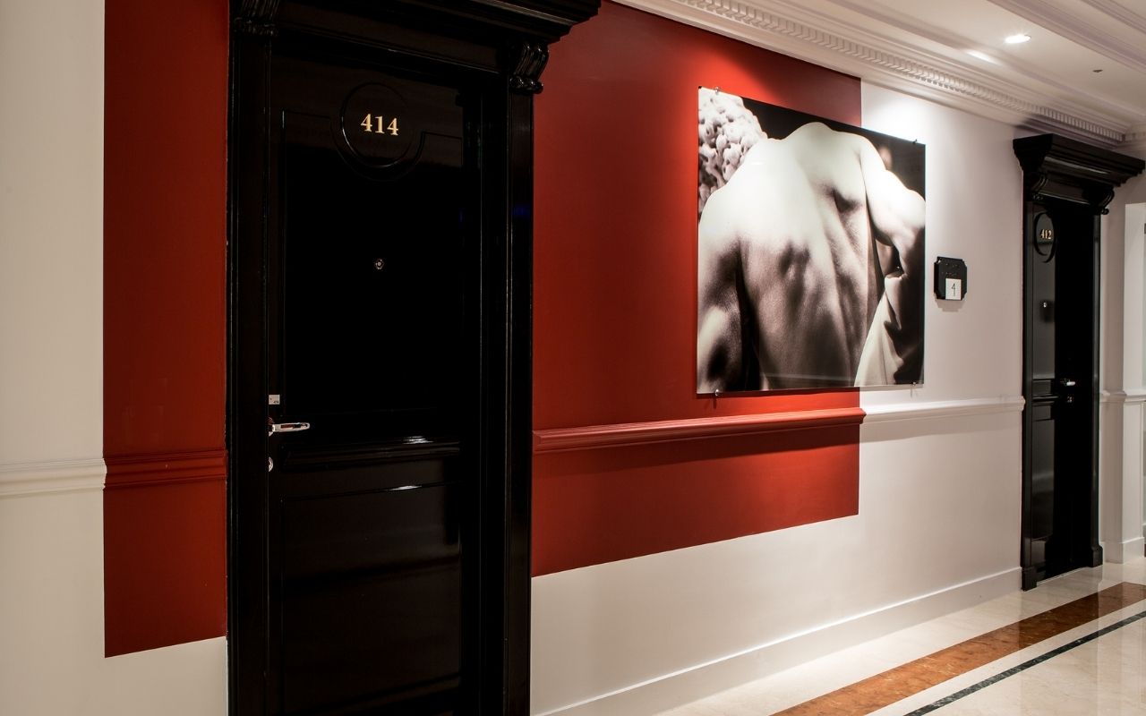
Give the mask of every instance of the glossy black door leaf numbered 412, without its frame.
<svg viewBox="0 0 1146 716">
<path fill-rule="evenodd" d="M 1094 210 L 1084 204 L 1043 199 L 1028 206 L 1025 520 L 1028 579 L 1034 581 L 1096 560 L 1091 544 L 1098 355 L 1094 222 Z"/>
</svg>

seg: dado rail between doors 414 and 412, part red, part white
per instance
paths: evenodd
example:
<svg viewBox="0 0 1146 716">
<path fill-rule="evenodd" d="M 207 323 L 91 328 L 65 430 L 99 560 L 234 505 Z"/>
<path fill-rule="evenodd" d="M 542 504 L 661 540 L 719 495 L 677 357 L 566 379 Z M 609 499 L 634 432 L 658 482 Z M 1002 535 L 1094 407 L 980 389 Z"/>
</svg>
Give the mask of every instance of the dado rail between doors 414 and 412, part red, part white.
<svg viewBox="0 0 1146 716">
<path fill-rule="evenodd" d="M 534 431 L 533 451 L 540 454 L 564 453 L 568 450 L 596 450 L 611 447 L 676 442 L 680 440 L 702 440 L 791 430 L 839 427 L 859 425 L 861 423 L 1021 412 L 1022 407 L 1022 396 L 1013 395 L 932 402 L 901 402 L 869 408 L 826 408 L 819 410 L 793 410 L 787 412 L 763 412 L 758 415 L 690 418 L 682 420 L 650 420 L 645 423 L 557 427 Z"/>
</svg>

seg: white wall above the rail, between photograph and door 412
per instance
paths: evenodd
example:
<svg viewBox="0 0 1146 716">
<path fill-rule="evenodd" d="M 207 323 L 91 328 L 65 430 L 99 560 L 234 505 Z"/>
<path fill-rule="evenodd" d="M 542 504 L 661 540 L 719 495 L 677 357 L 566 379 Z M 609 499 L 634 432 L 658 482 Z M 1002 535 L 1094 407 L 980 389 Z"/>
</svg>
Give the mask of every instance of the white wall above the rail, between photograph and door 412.
<svg viewBox="0 0 1146 716">
<path fill-rule="evenodd" d="M 865 390 L 868 408 L 1022 395 L 1022 170 L 1005 124 L 864 84 L 863 124 L 927 145 L 924 385 Z M 940 301 L 936 257 L 967 263 L 967 297 Z"/>
</svg>

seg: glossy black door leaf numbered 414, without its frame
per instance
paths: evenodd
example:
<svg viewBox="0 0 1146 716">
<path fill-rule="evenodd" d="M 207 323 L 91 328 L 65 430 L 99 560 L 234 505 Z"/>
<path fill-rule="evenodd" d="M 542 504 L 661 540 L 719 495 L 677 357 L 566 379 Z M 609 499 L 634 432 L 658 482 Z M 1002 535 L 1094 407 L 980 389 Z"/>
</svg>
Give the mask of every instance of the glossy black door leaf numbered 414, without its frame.
<svg viewBox="0 0 1146 716">
<path fill-rule="evenodd" d="M 272 63 L 275 714 L 468 710 L 480 262 L 466 102 L 336 57 Z"/>
</svg>

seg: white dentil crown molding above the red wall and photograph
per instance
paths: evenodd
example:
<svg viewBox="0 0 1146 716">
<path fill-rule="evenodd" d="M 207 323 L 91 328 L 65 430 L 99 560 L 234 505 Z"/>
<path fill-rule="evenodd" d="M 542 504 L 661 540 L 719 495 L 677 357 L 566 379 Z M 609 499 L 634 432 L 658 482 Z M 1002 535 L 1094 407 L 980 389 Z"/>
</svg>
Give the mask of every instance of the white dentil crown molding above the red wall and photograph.
<svg viewBox="0 0 1146 716">
<path fill-rule="evenodd" d="M 1053 132 L 1105 148 L 1121 147 L 1128 141 L 1129 127 L 1118 117 L 1069 101 L 1047 102 L 1019 84 L 832 22 L 783 0 L 768 2 L 768 9 L 759 7 L 761 2 L 749 5 L 739 0 L 618 1 L 1017 127 Z"/>
</svg>

